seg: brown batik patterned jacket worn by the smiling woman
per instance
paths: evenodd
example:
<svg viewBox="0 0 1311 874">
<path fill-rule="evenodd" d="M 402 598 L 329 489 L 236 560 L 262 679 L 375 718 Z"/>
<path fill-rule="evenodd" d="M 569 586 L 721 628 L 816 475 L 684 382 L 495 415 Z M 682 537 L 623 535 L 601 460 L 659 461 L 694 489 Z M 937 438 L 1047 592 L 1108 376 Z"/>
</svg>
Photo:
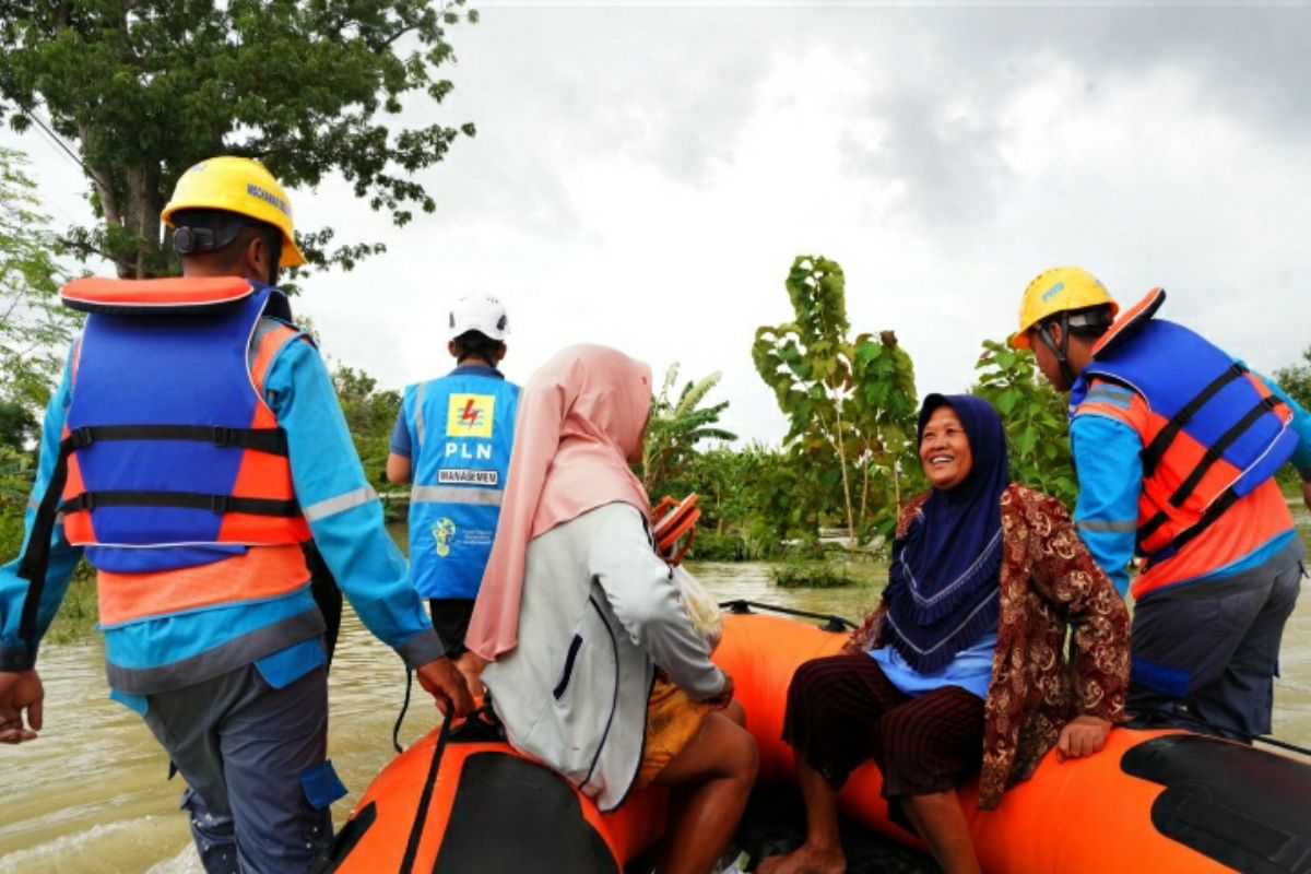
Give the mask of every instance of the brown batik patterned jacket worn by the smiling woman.
<svg viewBox="0 0 1311 874">
<path fill-rule="evenodd" d="M 897 535 L 928 495 L 906 506 Z M 1070 522 L 1065 506 L 1011 484 L 1002 494 L 1002 613 L 992 681 L 983 706 L 979 807 L 1028 780 L 1079 714 L 1122 722 L 1129 685 L 1129 613 Z M 882 645 L 880 604 L 847 642 L 859 653 Z M 1072 628 L 1070 651 L 1066 630 Z"/>
</svg>

